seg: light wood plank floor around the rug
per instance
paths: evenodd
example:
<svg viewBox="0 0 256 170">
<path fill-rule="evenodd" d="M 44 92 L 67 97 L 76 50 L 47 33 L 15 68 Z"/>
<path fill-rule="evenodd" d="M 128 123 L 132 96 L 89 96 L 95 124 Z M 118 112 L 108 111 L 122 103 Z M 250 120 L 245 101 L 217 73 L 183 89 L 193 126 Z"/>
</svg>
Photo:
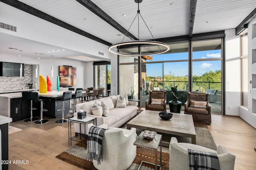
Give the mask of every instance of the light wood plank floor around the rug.
<svg viewBox="0 0 256 170">
<path fill-rule="evenodd" d="M 80 168 L 63 162 L 56 155 L 68 149 L 68 123 L 55 123 L 58 119 L 42 125 L 16 121 L 11 126 L 22 131 L 9 135 L 9 160 L 28 160 L 29 164 L 11 164 L 10 170 L 78 170 Z M 73 128 L 73 127 L 72 127 Z M 223 145 L 236 155 L 235 170 L 256 170 L 256 130 L 239 117 L 212 115 L 209 125 L 216 145 Z M 74 129 L 73 129 L 74 132 Z"/>
</svg>

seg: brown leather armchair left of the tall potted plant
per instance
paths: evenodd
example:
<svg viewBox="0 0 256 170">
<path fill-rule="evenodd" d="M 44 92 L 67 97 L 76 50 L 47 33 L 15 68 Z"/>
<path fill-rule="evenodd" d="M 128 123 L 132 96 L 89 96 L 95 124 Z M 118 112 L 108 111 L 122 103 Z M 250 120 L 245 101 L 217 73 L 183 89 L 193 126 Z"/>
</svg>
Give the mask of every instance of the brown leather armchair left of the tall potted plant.
<svg viewBox="0 0 256 170">
<path fill-rule="evenodd" d="M 166 111 L 166 91 L 150 91 L 145 109 Z"/>
</svg>

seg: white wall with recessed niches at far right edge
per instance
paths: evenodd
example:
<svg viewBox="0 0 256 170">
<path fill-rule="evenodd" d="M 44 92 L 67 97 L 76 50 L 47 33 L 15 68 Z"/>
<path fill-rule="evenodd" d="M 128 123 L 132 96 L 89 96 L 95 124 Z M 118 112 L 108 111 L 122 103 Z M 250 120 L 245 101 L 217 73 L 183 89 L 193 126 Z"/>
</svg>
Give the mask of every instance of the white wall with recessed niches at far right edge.
<svg viewBox="0 0 256 170">
<path fill-rule="evenodd" d="M 248 80 L 252 80 L 252 38 L 255 36 L 256 29 L 252 27 L 256 24 L 256 19 L 248 24 Z M 254 32 L 253 32 L 254 31 Z M 252 84 L 248 84 L 248 90 L 252 89 Z M 256 128 L 256 114 L 252 113 L 252 93 L 248 92 L 248 109 L 240 106 L 239 116 Z"/>
</svg>

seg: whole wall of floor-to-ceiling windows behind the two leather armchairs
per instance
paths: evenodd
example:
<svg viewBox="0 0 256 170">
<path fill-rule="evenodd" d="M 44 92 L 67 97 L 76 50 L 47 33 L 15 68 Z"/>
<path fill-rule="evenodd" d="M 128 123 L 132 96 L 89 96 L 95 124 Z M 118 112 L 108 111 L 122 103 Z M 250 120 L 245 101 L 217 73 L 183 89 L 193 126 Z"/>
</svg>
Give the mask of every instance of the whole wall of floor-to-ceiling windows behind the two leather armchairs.
<svg viewBox="0 0 256 170">
<path fill-rule="evenodd" d="M 168 43 L 168 45 L 170 51 L 161 55 L 142 55 L 141 57 L 132 57 L 132 59 L 128 56 L 119 56 L 119 79 L 124 79 L 129 72 L 124 69 L 124 65 L 138 64 L 140 86 L 137 86 L 135 82 L 130 84 L 134 84 L 134 87 L 138 88 L 136 94 L 138 94 L 141 106 L 145 106 L 150 90 L 165 90 L 167 92 L 166 107 L 168 107 L 168 102 L 172 100 L 170 89 L 177 86 L 178 100 L 182 102 L 183 106 L 188 91 L 215 90 L 210 104 L 212 113 L 222 113 L 222 38 L 175 42 Z M 154 48 L 148 46 L 148 49 Z M 120 50 L 125 52 L 134 52 L 135 50 L 136 53 L 140 51 L 143 54 L 143 50 L 147 50 L 147 48 L 133 47 Z M 128 62 L 128 60 L 130 61 Z M 134 77 L 137 79 L 137 72 L 135 74 L 134 68 L 136 66 L 131 66 L 130 74 L 133 73 L 136 76 L 130 80 L 136 81 Z M 124 81 L 122 80 L 122 82 Z M 128 90 L 126 89 L 131 89 L 128 86 L 124 88 L 123 86 L 126 85 L 121 81 L 119 81 L 119 86 L 120 94 L 127 94 Z"/>
</svg>

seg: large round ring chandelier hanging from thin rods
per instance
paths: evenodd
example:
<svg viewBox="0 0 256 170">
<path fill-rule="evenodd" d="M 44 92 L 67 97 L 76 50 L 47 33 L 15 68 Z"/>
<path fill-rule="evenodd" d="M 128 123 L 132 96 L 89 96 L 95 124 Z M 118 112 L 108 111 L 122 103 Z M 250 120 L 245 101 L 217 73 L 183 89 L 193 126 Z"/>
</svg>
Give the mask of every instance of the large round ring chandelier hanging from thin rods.
<svg viewBox="0 0 256 170">
<path fill-rule="evenodd" d="M 120 43 L 116 43 L 116 44 L 113 44 L 111 45 L 109 48 L 108 48 L 108 51 L 110 51 L 111 53 L 114 53 L 116 55 L 124 55 L 124 56 L 142 56 L 142 55 L 158 55 L 158 54 L 162 54 L 162 53 L 165 53 L 167 51 L 170 50 L 170 46 L 167 45 L 166 43 L 162 43 L 162 42 L 159 42 L 159 41 L 156 41 L 152 35 L 152 33 L 150 32 L 146 22 L 144 21 L 144 19 L 142 18 L 141 14 L 140 14 L 140 9 L 139 9 L 139 4 L 140 2 L 142 2 L 142 0 L 134 0 L 136 3 L 138 3 L 138 10 L 137 10 L 137 14 L 134 18 L 134 20 L 136 19 L 136 17 L 138 16 L 138 40 L 134 40 L 134 41 L 125 41 L 125 42 L 120 42 Z M 140 30 L 139 30 L 139 16 L 142 18 L 142 20 L 144 21 L 146 27 L 148 28 L 148 31 L 150 32 L 151 36 L 153 37 L 153 39 L 155 41 L 147 41 L 147 40 L 140 40 Z M 132 21 L 132 23 L 134 22 L 134 20 Z M 130 25 L 130 27 L 132 26 L 132 24 Z M 129 27 L 129 29 L 130 29 Z M 128 29 L 128 31 L 129 31 Z M 125 36 L 127 35 L 128 31 L 126 32 L 126 34 L 124 35 L 124 38 Z M 124 40 L 124 38 L 122 39 L 122 41 Z M 158 48 L 159 48 L 159 51 L 156 51 L 156 52 L 150 52 L 150 53 L 143 53 L 143 54 L 131 54 L 131 53 L 122 53 L 122 52 L 119 52 L 118 49 L 123 46 L 123 45 L 133 45 L 133 46 L 146 46 L 146 45 L 157 45 Z M 116 47 L 116 51 L 114 51 Z M 160 47 L 164 47 L 164 49 L 161 49 Z"/>
</svg>

